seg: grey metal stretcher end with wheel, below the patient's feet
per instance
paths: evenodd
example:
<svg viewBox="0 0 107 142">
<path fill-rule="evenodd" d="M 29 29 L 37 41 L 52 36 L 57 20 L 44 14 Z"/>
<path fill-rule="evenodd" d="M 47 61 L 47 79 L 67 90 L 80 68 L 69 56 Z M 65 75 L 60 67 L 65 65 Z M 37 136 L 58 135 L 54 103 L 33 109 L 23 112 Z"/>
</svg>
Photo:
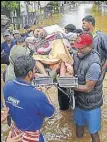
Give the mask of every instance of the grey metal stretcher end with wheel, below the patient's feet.
<svg viewBox="0 0 107 142">
<path fill-rule="evenodd" d="M 65 95 L 69 97 L 69 105 L 72 109 L 75 108 L 75 97 L 72 87 L 78 87 L 77 77 L 58 77 L 56 81 L 50 76 L 37 77 L 33 80 L 33 85 L 35 87 L 47 87 L 54 85 L 59 88 Z M 61 88 L 67 88 L 67 92 L 63 91 Z"/>
</svg>

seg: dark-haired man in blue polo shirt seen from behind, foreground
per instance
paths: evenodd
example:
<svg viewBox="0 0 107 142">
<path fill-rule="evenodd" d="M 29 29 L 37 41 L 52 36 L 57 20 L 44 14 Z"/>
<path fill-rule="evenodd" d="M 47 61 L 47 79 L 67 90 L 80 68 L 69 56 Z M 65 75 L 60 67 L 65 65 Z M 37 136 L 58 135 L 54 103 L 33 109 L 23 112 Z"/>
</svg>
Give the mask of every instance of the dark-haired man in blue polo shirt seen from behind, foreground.
<svg viewBox="0 0 107 142">
<path fill-rule="evenodd" d="M 15 123 L 12 135 L 24 132 L 23 140 L 44 142 L 40 129 L 44 118 L 51 117 L 55 109 L 45 94 L 30 84 L 35 77 L 35 60 L 30 56 L 18 57 L 14 72 L 16 79 L 8 81 L 3 89 L 9 114 Z"/>
</svg>

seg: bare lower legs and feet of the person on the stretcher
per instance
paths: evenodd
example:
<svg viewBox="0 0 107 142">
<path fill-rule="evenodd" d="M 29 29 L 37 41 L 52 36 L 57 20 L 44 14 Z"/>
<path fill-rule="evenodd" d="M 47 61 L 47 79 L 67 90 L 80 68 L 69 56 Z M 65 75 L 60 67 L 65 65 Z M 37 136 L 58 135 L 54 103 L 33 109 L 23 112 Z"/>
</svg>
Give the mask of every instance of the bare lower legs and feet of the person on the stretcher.
<svg viewBox="0 0 107 142">
<path fill-rule="evenodd" d="M 36 61 L 36 67 L 39 71 L 39 73 L 35 74 L 36 77 L 43 77 L 50 75 L 52 78 L 55 78 L 56 75 L 62 77 L 74 75 L 73 64 L 64 61 L 60 61 L 59 63 L 54 64 L 52 66 L 43 64 L 40 61 Z M 48 72 L 46 71 L 45 67 L 48 67 Z"/>
</svg>

